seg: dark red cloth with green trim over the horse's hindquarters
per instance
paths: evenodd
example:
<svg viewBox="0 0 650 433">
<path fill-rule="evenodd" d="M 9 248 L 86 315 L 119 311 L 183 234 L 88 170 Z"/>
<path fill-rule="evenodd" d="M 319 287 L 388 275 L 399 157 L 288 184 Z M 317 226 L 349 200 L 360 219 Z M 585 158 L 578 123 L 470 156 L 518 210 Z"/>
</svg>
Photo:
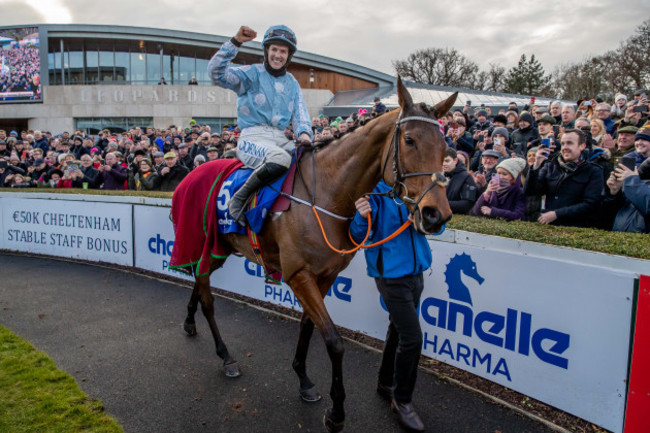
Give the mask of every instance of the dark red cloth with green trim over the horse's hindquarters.
<svg viewBox="0 0 650 433">
<path fill-rule="evenodd" d="M 217 159 L 192 170 L 172 196 L 171 220 L 174 248 L 170 269 L 202 276 L 210 272 L 210 256 L 231 253 L 217 232 L 217 195 L 221 185 L 243 164 L 237 159 Z"/>
</svg>

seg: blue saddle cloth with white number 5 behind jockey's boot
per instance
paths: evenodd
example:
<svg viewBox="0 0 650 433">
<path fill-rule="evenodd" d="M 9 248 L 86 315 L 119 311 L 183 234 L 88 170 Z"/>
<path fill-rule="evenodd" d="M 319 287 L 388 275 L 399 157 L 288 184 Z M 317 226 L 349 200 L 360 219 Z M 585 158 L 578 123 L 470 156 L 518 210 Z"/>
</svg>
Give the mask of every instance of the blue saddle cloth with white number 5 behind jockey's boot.
<svg viewBox="0 0 650 433">
<path fill-rule="evenodd" d="M 246 234 L 246 228 L 230 217 L 228 202 L 252 173 L 253 170 L 249 168 L 241 168 L 235 171 L 224 181 L 221 190 L 219 190 L 219 195 L 217 196 L 217 230 L 219 233 Z M 275 199 L 280 195 L 282 183 L 288 174 L 289 172 L 282 175 L 275 182 L 271 183 L 271 185 L 262 187 L 257 193 L 255 207 L 245 212 L 248 224 L 254 233 L 259 233 L 262 230 L 264 218 L 269 213 L 269 209 L 273 206 Z"/>
</svg>

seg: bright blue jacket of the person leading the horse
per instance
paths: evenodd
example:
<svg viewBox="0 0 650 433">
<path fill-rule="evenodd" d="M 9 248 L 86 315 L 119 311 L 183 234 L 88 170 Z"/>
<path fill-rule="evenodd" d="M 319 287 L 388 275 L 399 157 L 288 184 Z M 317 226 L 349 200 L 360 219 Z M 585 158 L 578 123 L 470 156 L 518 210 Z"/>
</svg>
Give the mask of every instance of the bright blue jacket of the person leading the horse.
<svg viewBox="0 0 650 433">
<path fill-rule="evenodd" d="M 383 180 L 373 192 L 388 192 L 391 187 Z M 395 232 L 408 218 L 408 209 L 401 200 L 386 196 L 370 196 L 372 207 L 372 228 L 367 243 L 374 243 L 387 238 Z M 368 229 L 368 221 L 359 212 L 350 224 L 350 234 L 356 242 L 363 241 Z M 431 267 L 431 249 L 426 236 L 409 226 L 394 239 L 365 249 L 368 275 L 371 277 L 399 278 L 416 275 Z"/>
</svg>

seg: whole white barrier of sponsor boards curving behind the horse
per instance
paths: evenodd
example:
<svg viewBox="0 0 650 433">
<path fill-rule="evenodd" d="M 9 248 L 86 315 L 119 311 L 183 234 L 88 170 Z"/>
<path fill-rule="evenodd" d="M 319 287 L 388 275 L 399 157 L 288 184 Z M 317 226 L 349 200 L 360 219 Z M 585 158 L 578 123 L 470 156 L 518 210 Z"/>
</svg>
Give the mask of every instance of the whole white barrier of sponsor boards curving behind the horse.
<svg viewBox="0 0 650 433">
<path fill-rule="evenodd" d="M 170 205 L 169 199 L 0 193 L 0 249 L 188 278 L 168 268 Z M 635 317 L 638 293 L 650 290 L 642 277 L 650 274 L 649 260 L 454 230 L 429 242 L 433 267 L 419 307 L 425 356 L 616 433 L 634 431 L 625 426 L 630 365 L 646 362 L 634 371 L 641 388 L 634 388 L 628 417 L 643 415 L 638 422 L 648 423 L 647 397 L 639 400 L 650 391 L 642 372 L 648 358 L 642 361 L 636 348 L 640 361 L 631 357 L 635 320 L 637 328 L 649 328 L 649 316 Z M 211 284 L 301 309 L 287 285 L 266 284 L 261 267 L 244 258 L 229 258 Z M 326 304 L 337 325 L 383 340 L 388 314 L 362 254 L 339 275 Z"/>
</svg>

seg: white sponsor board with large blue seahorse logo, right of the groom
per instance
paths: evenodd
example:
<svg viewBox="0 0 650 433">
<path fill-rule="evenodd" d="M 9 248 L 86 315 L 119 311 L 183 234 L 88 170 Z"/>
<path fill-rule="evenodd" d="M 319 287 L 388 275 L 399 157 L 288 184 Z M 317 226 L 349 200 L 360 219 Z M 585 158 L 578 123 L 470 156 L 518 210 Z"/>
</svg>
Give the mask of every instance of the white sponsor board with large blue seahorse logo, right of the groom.
<svg viewBox="0 0 650 433">
<path fill-rule="evenodd" d="M 422 353 L 621 431 L 634 278 L 431 242 Z"/>
</svg>

